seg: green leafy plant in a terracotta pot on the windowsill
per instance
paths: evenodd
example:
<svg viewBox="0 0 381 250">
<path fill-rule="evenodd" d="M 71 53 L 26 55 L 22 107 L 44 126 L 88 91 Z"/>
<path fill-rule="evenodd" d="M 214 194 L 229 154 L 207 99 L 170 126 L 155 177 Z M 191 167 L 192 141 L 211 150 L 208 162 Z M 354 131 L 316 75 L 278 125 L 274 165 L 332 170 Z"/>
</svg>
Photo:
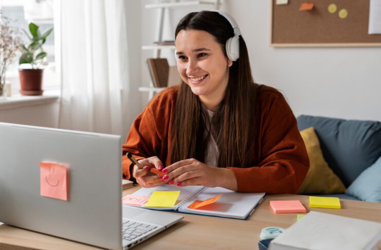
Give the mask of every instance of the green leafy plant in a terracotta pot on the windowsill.
<svg viewBox="0 0 381 250">
<path fill-rule="evenodd" d="M 23 54 L 20 57 L 19 64 L 30 64 L 31 68 L 19 69 L 21 90 L 20 93 L 25 96 L 39 96 L 44 92 L 42 90 L 42 65 L 47 65 L 46 52 L 42 48 L 46 38 L 53 28 L 46 30 L 42 35 L 39 31 L 39 26 L 34 23 L 29 24 L 30 35 L 24 30 L 30 44 L 22 45 Z M 34 56 L 35 52 L 39 51 Z"/>
</svg>

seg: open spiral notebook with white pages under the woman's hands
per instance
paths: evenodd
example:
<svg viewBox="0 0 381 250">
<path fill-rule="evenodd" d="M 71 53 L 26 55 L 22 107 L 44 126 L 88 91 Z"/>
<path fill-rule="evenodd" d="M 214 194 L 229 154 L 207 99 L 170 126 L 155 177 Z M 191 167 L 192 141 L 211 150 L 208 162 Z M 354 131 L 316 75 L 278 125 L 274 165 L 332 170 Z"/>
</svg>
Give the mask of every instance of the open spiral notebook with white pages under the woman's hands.
<svg viewBox="0 0 381 250">
<path fill-rule="evenodd" d="M 153 188 L 141 188 L 134 195 L 150 197 L 153 191 L 180 191 L 175 206 L 150 207 L 148 209 L 193 213 L 196 215 L 216 216 L 246 220 L 262 201 L 265 193 L 239 193 L 221 187 L 209 188 L 204 186 L 176 187 L 161 185 Z M 222 194 L 219 200 L 207 206 L 188 208 L 195 201 L 205 201 Z M 141 207 L 144 207 L 141 206 Z"/>
</svg>

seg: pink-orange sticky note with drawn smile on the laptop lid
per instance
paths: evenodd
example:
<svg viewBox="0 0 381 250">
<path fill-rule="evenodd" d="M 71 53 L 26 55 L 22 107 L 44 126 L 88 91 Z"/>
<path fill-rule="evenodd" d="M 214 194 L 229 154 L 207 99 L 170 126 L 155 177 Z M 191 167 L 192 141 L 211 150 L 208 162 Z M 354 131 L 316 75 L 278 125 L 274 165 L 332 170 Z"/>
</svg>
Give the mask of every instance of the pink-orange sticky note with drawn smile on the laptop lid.
<svg viewBox="0 0 381 250">
<path fill-rule="evenodd" d="M 68 199 L 68 170 L 56 163 L 40 164 L 40 194 L 63 201 Z"/>
</svg>

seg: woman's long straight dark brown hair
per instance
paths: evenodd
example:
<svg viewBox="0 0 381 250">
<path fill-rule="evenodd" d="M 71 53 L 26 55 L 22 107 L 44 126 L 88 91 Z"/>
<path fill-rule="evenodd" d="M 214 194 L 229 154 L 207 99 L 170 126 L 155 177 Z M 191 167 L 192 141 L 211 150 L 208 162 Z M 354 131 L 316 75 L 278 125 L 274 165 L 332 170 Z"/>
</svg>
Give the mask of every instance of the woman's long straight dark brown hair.
<svg viewBox="0 0 381 250">
<path fill-rule="evenodd" d="M 212 34 L 227 57 L 225 43 L 234 36 L 234 32 L 225 17 L 212 11 L 191 12 L 178 23 L 175 37 L 180 30 L 187 29 Z M 203 111 L 199 98 L 185 82 L 180 85 L 171 124 L 173 145 L 169 146 L 169 152 L 172 163 L 187 158 L 205 162 L 211 133 L 219 148 L 217 166 L 255 166 L 256 159 L 252 159 L 252 155 L 258 145 L 258 85 L 251 75 L 245 41 L 241 36 L 239 41 L 240 58 L 229 67 L 225 97 L 211 120 L 211 126 L 208 126 L 209 117 Z"/>
</svg>

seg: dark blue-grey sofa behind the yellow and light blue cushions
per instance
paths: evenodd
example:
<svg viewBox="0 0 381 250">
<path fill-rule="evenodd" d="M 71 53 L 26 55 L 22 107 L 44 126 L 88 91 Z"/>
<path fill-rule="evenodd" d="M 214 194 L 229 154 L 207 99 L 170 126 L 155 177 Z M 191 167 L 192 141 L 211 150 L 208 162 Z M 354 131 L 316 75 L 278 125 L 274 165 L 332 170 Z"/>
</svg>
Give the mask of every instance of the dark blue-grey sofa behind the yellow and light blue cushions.
<svg viewBox="0 0 381 250">
<path fill-rule="evenodd" d="M 307 115 L 297 117 L 297 121 L 299 131 L 314 127 L 324 159 L 347 188 L 381 156 L 379 121 L 343 120 Z M 381 176 L 379 180 L 381 183 Z M 321 196 L 358 200 L 358 197 L 355 198 L 348 192 Z"/>
</svg>

